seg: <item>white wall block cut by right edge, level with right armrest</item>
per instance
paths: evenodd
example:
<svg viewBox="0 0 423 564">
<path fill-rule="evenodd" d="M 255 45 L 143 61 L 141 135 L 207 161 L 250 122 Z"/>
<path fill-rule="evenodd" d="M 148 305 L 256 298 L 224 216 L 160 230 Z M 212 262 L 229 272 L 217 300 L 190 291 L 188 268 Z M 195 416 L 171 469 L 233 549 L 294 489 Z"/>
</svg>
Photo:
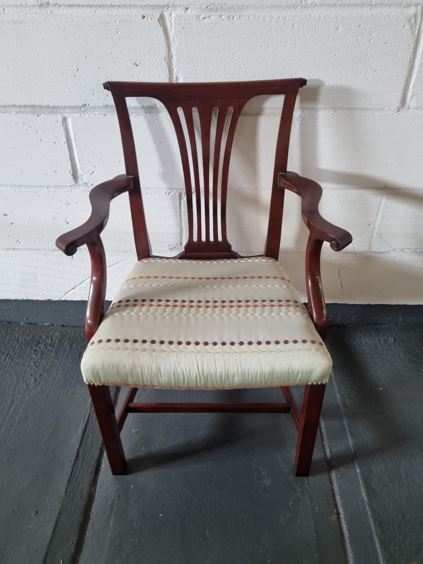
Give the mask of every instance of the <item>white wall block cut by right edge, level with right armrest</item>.
<svg viewBox="0 0 423 564">
<path fill-rule="evenodd" d="M 382 207 L 372 250 L 423 248 L 423 192 L 390 190 Z"/>
</svg>

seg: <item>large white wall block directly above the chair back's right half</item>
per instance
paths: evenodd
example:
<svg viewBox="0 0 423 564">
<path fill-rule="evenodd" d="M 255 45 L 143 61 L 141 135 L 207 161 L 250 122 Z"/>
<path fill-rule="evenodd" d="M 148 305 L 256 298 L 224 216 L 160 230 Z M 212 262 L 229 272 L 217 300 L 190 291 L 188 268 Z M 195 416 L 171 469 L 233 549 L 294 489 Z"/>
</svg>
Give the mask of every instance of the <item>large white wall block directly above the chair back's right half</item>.
<svg viewBox="0 0 423 564">
<path fill-rule="evenodd" d="M 396 107 L 415 14 L 411 7 L 190 10 L 175 16 L 179 80 L 210 80 L 210 68 L 222 81 L 302 76 L 324 86 L 306 87 L 305 105 Z"/>
</svg>

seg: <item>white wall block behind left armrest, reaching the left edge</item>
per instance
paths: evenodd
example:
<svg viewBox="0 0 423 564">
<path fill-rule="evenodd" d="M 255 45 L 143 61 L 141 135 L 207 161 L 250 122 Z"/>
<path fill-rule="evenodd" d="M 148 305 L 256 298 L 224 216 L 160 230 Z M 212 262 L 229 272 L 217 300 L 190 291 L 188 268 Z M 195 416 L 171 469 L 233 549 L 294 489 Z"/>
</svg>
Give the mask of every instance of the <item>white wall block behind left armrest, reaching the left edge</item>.
<svg viewBox="0 0 423 564">
<path fill-rule="evenodd" d="M 89 217 L 89 188 L 21 188 L 0 190 L 3 214 L 0 237 L 5 249 L 55 249 L 55 240 Z M 143 193 L 147 228 L 155 254 L 177 254 L 180 249 L 179 194 L 165 191 Z M 30 222 L 28 221 L 28 218 Z M 111 203 L 108 224 L 102 234 L 106 252 L 134 250 L 129 200 L 126 194 Z M 122 272 L 122 277 L 125 272 Z"/>
</svg>

